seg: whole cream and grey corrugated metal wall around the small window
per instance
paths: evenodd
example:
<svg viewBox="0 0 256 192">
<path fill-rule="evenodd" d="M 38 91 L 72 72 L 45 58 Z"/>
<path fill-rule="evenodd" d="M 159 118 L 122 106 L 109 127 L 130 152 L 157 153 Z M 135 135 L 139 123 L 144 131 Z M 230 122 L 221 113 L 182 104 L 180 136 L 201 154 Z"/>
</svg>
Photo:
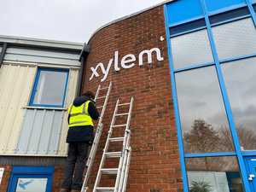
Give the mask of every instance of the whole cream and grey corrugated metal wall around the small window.
<svg viewBox="0 0 256 192">
<path fill-rule="evenodd" d="M 0 154 L 67 154 L 67 111 L 23 108 L 35 74 L 31 65 L 3 65 L 0 70 Z M 70 69 L 66 107 L 73 102 L 78 75 L 78 69 Z"/>
</svg>

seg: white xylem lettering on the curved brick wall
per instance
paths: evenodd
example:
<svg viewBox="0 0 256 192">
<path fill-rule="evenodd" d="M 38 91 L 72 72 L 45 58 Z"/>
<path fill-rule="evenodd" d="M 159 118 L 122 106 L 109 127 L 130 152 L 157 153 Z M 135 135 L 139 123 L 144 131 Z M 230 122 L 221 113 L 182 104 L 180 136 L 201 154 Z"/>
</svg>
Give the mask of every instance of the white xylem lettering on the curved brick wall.
<svg viewBox="0 0 256 192">
<path fill-rule="evenodd" d="M 148 56 L 148 64 L 152 63 L 152 55 L 153 53 L 156 54 L 157 60 L 158 61 L 163 61 L 164 58 L 161 56 L 160 53 L 160 49 L 159 48 L 152 48 L 152 49 L 145 49 L 142 52 L 140 52 L 140 54 L 138 55 L 138 65 L 139 66 L 143 66 L 143 55 L 147 55 Z M 131 67 L 135 67 L 135 62 L 136 62 L 136 57 L 135 55 L 132 54 L 128 54 L 125 55 L 120 62 L 120 65 L 122 68 L 131 68 Z M 103 74 L 103 77 L 101 79 L 101 81 L 104 81 L 108 78 L 108 73 L 110 70 L 110 67 L 113 65 L 114 70 L 116 72 L 118 72 L 120 70 L 119 67 L 119 51 L 115 51 L 113 58 L 111 58 L 108 62 L 108 66 L 107 68 L 104 67 L 104 64 L 102 62 L 98 63 L 96 65 L 96 67 L 90 67 L 90 71 L 91 76 L 90 76 L 90 80 L 93 79 L 94 77 L 99 77 L 99 73 L 98 73 L 98 69 L 100 68 Z"/>
</svg>

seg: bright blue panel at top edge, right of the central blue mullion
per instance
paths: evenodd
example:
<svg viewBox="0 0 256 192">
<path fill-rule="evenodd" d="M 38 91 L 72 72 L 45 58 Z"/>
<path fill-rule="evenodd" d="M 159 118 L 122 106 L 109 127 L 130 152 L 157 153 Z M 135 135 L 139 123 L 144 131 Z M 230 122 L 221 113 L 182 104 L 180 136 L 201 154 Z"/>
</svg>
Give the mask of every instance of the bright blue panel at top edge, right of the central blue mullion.
<svg viewBox="0 0 256 192">
<path fill-rule="evenodd" d="M 212 12 L 218 9 L 226 9 L 230 6 L 245 3 L 244 0 L 206 0 L 207 10 Z"/>
</svg>

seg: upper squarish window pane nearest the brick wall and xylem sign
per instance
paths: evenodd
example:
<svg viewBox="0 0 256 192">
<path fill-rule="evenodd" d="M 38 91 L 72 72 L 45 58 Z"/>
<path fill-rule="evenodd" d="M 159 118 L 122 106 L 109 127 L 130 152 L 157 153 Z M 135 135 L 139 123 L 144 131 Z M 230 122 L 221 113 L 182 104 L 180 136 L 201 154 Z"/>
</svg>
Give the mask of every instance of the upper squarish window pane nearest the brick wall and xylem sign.
<svg viewBox="0 0 256 192">
<path fill-rule="evenodd" d="M 175 68 L 213 61 L 207 30 L 171 38 L 171 44 Z"/>
</svg>

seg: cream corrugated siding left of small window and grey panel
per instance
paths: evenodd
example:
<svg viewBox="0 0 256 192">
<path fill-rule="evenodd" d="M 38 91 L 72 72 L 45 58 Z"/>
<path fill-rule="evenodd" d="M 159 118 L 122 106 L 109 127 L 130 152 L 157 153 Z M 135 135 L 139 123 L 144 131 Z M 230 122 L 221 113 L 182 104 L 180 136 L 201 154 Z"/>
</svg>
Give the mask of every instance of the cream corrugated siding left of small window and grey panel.
<svg viewBox="0 0 256 192">
<path fill-rule="evenodd" d="M 0 70 L 0 153 L 14 154 L 23 109 L 36 67 L 3 65 Z"/>
</svg>

